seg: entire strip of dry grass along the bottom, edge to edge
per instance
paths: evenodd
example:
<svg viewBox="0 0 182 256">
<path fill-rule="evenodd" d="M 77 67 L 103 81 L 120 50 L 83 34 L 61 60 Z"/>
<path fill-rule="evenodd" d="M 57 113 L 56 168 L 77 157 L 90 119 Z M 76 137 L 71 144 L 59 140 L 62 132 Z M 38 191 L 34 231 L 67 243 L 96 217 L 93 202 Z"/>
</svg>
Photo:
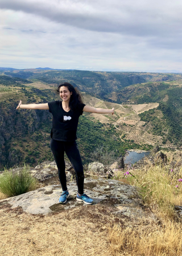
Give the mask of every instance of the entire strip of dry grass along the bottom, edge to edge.
<svg viewBox="0 0 182 256">
<path fill-rule="evenodd" d="M 0 255 L 8 256 L 180 256 L 181 224 L 163 227 L 123 217 L 101 206 L 31 215 L 0 210 Z"/>
</svg>

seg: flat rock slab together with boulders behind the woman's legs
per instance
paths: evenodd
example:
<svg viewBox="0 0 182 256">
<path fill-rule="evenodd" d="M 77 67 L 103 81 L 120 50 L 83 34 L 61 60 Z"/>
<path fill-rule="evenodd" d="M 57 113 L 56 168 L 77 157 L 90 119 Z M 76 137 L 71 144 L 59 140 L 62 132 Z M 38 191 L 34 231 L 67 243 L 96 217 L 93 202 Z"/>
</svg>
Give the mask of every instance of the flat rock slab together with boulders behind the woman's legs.
<svg viewBox="0 0 182 256">
<path fill-rule="evenodd" d="M 16 171 L 17 169 L 13 169 Z M 59 197 L 61 186 L 57 175 L 55 162 L 44 162 L 30 170 L 32 176 L 39 181 L 39 189 L 16 197 L 2 199 L 1 208 L 15 209 L 20 207 L 22 211 L 30 214 L 50 214 L 74 207 L 80 207 L 76 201 L 77 185 L 75 171 L 71 164 L 66 163 L 68 190 L 70 197 L 65 205 L 60 205 Z M 149 209 L 144 209 L 142 201 L 138 196 L 135 187 L 126 183 L 109 179 L 114 171 L 101 163 L 91 163 L 85 170 L 85 193 L 94 199 L 93 205 L 100 205 L 107 208 L 110 213 L 122 216 L 137 218 L 152 218 L 154 215 Z M 81 203 L 81 207 L 85 204 Z"/>
</svg>

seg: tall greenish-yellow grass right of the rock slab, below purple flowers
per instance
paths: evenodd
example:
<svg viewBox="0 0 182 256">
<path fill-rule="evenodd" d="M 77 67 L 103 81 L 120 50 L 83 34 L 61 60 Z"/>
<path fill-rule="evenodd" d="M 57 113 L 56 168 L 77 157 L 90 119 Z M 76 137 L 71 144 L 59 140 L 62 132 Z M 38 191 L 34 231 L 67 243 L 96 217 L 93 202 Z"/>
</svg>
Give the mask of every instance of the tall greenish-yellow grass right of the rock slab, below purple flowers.
<svg viewBox="0 0 182 256">
<path fill-rule="evenodd" d="M 177 164 L 177 163 L 176 163 Z M 124 175 L 126 171 L 129 175 Z M 159 217 L 174 220 L 177 218 L 175 205 L 182 202 L 182 167 L 171 172 L 169 165 L 148 165 L 140 169 L 118 170 L 115 179 L 137 187 L 140 197 Z"/>
</svg>

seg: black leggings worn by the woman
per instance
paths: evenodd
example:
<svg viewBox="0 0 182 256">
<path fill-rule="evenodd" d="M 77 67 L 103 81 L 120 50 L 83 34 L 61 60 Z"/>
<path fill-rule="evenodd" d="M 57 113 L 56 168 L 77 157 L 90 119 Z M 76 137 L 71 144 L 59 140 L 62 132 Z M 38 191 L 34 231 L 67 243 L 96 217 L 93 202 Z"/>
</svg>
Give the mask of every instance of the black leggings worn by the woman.
<svg viewBox="0 0 182 256">
<path fill-rule="evenodd" d="M 79 150 L 77 148 L 76 141 L 64 142 L 64 141 L 55 141 L 55 139 L 51 139 L 51 150 L 56 161 L 59 179 L 60 179 L 63 191 L 67 190 L 67 177 L 65 174 L 65 162 L 64 162 L 64 152 L 65 152 L 76 172 L 76 182 L 78 186 L 78 193 L 84 194 L 84 170 L 83 170 L 82 161 L 81 161 Z"/>
</svg>

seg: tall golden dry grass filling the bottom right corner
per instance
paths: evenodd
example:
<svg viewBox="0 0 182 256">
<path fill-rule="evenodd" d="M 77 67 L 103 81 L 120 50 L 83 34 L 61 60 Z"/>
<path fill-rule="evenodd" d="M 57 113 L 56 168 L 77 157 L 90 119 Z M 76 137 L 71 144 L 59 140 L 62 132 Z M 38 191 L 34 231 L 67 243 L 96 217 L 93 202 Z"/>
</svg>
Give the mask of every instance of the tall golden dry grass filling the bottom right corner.
<svg viewBox="0 0 182 256">
<path fill-rule="evenodd" d="M 167 223 L 163 230 L 123 229 L 115 225 L 109 230 L 110 252 L 114 256 L 181 256 L 182 226 Z"/>
</svg>

